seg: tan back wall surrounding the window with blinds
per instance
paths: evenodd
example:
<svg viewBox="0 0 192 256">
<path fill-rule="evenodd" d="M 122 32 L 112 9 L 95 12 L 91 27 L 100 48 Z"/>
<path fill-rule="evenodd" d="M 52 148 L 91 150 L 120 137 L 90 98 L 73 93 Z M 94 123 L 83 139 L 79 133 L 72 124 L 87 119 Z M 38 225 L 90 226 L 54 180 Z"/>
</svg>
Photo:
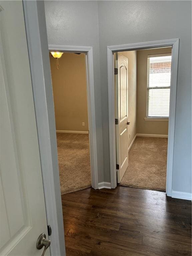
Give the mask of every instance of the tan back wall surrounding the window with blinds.
<svg viewBox="0 0 192 256">
<path fill-rule="evenodd" d="M 168 121 L 145 121 L 147 108 L 147 55 L 171 53 L 171 47 L 137 51 L 137 133 L 168 134 Z"/>
</svg>

